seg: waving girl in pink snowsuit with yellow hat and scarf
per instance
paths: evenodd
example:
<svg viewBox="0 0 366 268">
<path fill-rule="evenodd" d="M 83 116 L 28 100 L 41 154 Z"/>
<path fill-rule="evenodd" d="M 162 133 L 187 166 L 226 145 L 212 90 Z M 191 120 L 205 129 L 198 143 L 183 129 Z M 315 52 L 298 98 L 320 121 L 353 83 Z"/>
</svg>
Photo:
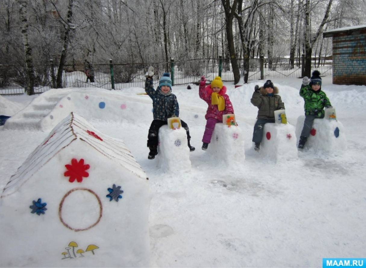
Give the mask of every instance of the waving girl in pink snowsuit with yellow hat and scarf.
<svg viewBox="0 0 366 268">
<path fill-rule="evenodd" d="M 223 122 L 223 115 L 234 113 L 234 108 L 232 107 L 229 96 L 226 94 L 226 87 L 223 85 L 223 81 L 221 81 L 221 77 L 219 76 L 215 77 L 208 86 L 206 86 L 205 76 L 201 77 L 199 97 L 208 104 L 205 115 L 207 123 L 202 138 L 202 150 L 207 150 L 215 124 Z"/>
</svg>

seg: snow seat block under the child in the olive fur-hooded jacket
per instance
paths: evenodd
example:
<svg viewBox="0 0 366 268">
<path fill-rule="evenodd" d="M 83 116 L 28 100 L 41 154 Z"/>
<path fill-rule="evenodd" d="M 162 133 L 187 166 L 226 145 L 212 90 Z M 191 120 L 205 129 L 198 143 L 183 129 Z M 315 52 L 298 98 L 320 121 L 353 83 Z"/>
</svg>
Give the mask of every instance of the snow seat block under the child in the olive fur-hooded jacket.
<svg viewBox="0 0 366 268">
<path fill-rule="evenodd" d="M 262 158 L 275 162 L 298 159 L 295 127 L 291 124 L 264 124 L 263 139 L 258 153 Z"/>
</svg>

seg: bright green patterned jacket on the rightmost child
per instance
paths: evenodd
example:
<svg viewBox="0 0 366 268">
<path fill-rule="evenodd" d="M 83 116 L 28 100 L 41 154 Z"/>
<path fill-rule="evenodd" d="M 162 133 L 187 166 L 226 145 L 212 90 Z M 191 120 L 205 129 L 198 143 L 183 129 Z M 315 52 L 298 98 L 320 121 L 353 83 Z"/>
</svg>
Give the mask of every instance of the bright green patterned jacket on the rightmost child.
<svg viewBox="0 0 366 268">
<path fill-rule="evenodd" d="M 300 96 L 305 101 L 305 115 L 315 115 L 317 118 L 324 118 L 324 107 L 332 105 L 324 91 L 321 89 L 314 91 L 310 85 L 301 85 Z"/>
</svg>

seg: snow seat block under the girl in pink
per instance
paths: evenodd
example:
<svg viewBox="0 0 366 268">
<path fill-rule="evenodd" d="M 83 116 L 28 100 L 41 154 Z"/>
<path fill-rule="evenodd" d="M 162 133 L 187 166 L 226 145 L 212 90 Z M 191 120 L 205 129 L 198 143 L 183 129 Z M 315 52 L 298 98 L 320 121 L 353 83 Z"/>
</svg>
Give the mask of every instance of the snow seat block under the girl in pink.
<svg viewBox="0 0 366 268">
<path fill-rule="evenodd" d="M 217 123 L 207 149 L 211 161 L 222 164 L 238 164 L 245 160 L 244 133 L 238 126 Z"/>
</svg>

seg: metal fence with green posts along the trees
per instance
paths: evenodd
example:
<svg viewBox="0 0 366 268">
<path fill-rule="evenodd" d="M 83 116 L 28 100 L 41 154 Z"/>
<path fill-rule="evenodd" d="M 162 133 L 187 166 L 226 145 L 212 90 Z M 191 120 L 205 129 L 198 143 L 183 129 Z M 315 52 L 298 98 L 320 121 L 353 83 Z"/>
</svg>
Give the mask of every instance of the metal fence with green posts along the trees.
<svg viewBox="0 0 366 268">
<path fill-rule="evenodd" d="M 243 59 L 239 59 L 239 66 L 243 66 Z M 271 62 L 266 58 L 250 59 L 248 80 L 275 79 L 287 77 L 302 77 L 303 59 L 296 59 L 294 68 L 290 68 L 288 58 L 273 58 Z M 144 88 L 145 73 L 149 66 L 155 68 L 154 83 L 164 72 L 169 72 L 174 85 L 198 83 L 201 76 L 208 80 L 221 74 L 223 81 L 234 81 L 230 61 L 227 59 L 189 59 L 182 61 L 161 63 L 102 63 L 92 64 L 94 81 L 85 74 L 83 65 L 64 66 L 63 88 L 103 88 L 124 89 L 131 87 Z M 45 92 L 55 85 L 52 80 L 52 68 L 57 72 L 57 67 L 34 66 L 36 76 L 35 93 Z M 331 59 L 314 59 L 312 69 L 319 70 L 322 75 L 332 74 Z M 25 67 L 17 65 L 0 65 L 0 94 L 25 93 Z"/>
</svg>

